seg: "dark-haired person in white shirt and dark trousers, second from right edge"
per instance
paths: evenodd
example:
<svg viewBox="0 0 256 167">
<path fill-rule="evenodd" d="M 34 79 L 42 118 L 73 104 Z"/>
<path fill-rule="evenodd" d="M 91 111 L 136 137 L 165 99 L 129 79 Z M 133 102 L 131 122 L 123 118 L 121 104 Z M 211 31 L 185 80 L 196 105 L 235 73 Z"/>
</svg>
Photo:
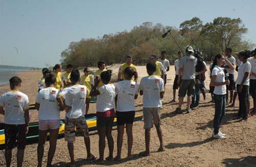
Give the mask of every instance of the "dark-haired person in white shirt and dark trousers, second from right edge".
<svg viewBox="0 0 256 167">
<path fill-rule="evenodd" d="M 247 120 L 247 114 L 249 113 L 249 74 L 251 71 L 251 64 L 247 61 L 250 57 L 249 51 L 241 51 L 238 53 L 238 58 L 243 63 L 238 68 L 238 78 L 236 81 L 238 98 L 239 98 L 239 112 L 238 116 L 242 117 L 244 120 Z"/>
</svg>

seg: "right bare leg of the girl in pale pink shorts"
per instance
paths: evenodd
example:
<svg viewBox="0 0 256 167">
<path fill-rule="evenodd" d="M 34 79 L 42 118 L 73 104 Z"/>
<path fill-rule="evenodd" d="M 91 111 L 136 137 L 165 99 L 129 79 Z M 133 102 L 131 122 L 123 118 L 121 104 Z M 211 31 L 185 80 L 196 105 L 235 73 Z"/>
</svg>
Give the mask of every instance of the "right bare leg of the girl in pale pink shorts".
<svg viewBox="0 0 256 167">
<path fill-rule="evenodd" d="M 59 132 L 59 128 L 50 129 L 50 140 L 49 140 L 50 147 L 49 147 L 48 158 L 47 158 L 47 165 L 49 166 L 52 165 L 52 159 L 55 154 L 58 132 Z"/>
</svg>

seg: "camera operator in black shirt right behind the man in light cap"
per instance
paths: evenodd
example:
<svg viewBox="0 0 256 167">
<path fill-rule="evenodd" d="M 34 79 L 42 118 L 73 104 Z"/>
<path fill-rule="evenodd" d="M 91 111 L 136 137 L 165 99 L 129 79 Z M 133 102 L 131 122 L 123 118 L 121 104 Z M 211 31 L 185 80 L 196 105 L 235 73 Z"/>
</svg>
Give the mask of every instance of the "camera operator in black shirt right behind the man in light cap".
<svg viewBox="0 0 256 167">
<path fill-rule="evenodd" d="M 197 108 L 199 105 L 200 100 L 200 92 L 201 92 L 201 82 L 203 80 L 203 76 L 201 74 L 204 74 L 205 71 L 207 71 L 206 66 L 204 64 L 204 59 L 200 56 L 200 51 L 195 50 L 194 53 L 195 57 L 197 58 L 197 65 L 196 65 L 196 84 L 195 88 L 193 90 L 193 96 L 192 96 L 192 104 L 190 105 L 190 108 Z"/>
</svg>

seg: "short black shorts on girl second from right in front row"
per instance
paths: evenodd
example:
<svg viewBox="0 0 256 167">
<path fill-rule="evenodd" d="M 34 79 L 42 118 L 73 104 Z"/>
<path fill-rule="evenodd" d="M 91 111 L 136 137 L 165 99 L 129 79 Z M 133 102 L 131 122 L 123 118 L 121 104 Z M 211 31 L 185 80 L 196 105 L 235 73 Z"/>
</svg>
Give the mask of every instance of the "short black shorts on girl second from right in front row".
<svg viewBox="0 0 256 167">
<path fill-rule="evenodd" d="M 135 111 L 116 111 L 117 125 L 133 124 Z"/>
</svg>

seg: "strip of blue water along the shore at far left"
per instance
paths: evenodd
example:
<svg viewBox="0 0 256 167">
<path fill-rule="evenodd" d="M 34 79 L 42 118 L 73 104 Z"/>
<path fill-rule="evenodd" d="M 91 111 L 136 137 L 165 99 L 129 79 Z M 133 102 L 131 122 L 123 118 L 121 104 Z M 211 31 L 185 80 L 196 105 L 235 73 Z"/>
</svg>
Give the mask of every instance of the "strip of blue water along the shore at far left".
<svg viewBox="0 0 256 167">
<path fill-rule="evenodd" d="M 15 72 L 26 71 L 30 68 L 17 68 L 17 67 L 0 67 L 0 85 L 9 83 L 9 79 L 17 76 Z"/>
</svg>

